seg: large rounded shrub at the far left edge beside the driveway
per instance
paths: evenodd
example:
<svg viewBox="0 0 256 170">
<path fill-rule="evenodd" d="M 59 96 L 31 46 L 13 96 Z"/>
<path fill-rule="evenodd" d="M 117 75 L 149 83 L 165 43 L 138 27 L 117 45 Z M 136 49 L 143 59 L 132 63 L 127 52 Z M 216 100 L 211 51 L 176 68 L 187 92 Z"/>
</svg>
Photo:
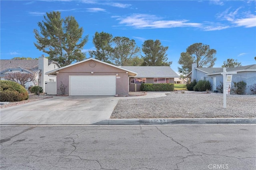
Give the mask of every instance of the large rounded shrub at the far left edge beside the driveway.
<svg viewBox="0 0 256 170">
<path fill-rule="evenodd" d="M 0 80 L 0 101 L 18 102 L 28 100 L 28 91 L 20 84 L 9 80 Z"/>
</svg>

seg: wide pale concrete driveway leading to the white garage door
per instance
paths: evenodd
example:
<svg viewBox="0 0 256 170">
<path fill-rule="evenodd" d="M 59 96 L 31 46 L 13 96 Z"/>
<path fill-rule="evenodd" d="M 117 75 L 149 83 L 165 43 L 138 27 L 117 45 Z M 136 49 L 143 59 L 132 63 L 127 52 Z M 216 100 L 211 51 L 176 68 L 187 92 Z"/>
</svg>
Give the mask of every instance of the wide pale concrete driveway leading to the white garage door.
<svg viewBox="0 0 256 170">
<path fill-rule="evenodd" d="M 54 96 L 1 109 L 1 125 L 83 125 L 109 119 L 119 98 Z"/>
</svg>

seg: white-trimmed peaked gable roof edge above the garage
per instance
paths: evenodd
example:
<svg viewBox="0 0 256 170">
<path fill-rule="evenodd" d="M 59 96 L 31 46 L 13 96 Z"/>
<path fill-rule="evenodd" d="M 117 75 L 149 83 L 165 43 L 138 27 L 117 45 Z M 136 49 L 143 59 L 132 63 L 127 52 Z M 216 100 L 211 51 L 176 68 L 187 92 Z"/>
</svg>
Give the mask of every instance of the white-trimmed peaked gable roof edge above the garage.
<svg viewBox="0 0 256 170">
<path fill-rule="evenodd" d="M 70 64 L 70 65 L 67 65 L 67 66 L 64 66 L 64 67 L 61 67 L 61 68 L 57 68 L 55 70 L 51 70 L 51 71 L 48 71 L 46 72 L 45 74 L 48 74 L 48 75 L 56 75 L 56 72 L 58 72 L 59 70 L 62 70 L 64 68 L 67 68 L 67 67 L 70 67 L 70 66 L 74 66 L 76 64 L 80 64 L 80 63 L 83 63 L 83 62 L 86 62 L 86 61 L 90 61 L 90 60 L 93 60 L 93 61 L 97 61 L 99 63 L 103 63 L 103 64 L 106 64 L 106 65 L 109 65 L 109 66 L 112 66 L 112 67 L 115 67 L 115 68 L 119 68 L 121 70 L 125 70 L 125 71 L 128 71 L 129 72 L 129 75 L 132 75 L 132 76 L 135 76 L 137 75 L 137 72 L 134 72 L 133 70 L 129 70 L 129 69 L 126 69 L 126 68 L 122 68 L 120 66 L 115 66 L 113 64 L 109 64 L 109 63 L 106 63 L 106 62 L 103 62 L 103 61 L 100 61 L 100 60 L 97 60 L 97 59 L 93 59 L 93 58 L 89 58 L 89 59 L 86 59 L 86 60 L 83 60 L 83 61 L 79 61 L 77 63 L 74 63 L 74 64 Z"/>
</svg>

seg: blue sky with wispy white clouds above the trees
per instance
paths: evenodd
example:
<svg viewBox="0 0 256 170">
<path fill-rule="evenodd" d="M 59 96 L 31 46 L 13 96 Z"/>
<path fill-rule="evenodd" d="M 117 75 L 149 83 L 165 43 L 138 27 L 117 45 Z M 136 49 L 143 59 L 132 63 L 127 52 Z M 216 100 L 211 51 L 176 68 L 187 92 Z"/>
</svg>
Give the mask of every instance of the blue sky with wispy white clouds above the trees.
<svg viewBox="0 0 256 170">
<path fill-rule="evenodd" d="M 178 71 L 180 53 L 193 43 L 216 49 L 214 67 L 228 58 L 242 65 L 256 64 L 256 1 L 88 1 L 88 0 L 1 0 L 0 57 L 38 58 L 33 30 L 46 12 L 60 11 L 62 18 L 74 16 L 84 36 L 83 51 L 94 50 L 96 31 L 134 39 L 138 47 L 147 39 L 168 46 L 168 61 Z M 142 53 L 143 55 L 143 53 Z M 47 55 L 46 55 L 47 56 Z M 87 55 L 89 57 L 89 55 Z"/>
</svg>

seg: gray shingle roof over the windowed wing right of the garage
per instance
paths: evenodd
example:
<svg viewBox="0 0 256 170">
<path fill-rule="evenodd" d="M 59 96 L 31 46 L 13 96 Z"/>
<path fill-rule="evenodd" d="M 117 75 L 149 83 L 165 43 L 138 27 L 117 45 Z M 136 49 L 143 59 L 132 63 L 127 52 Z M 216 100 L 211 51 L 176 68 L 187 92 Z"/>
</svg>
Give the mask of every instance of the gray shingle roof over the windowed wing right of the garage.
<svg viewBox="0 0 256 170">
<path fill-rule="evenodd" d="M 180 77 L 169 66 L 122 66 L 122 68 L 137 72 L 136 77 L 140 78 Z"/>
</svg>

